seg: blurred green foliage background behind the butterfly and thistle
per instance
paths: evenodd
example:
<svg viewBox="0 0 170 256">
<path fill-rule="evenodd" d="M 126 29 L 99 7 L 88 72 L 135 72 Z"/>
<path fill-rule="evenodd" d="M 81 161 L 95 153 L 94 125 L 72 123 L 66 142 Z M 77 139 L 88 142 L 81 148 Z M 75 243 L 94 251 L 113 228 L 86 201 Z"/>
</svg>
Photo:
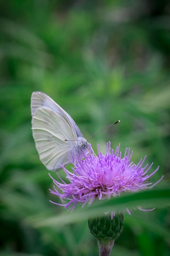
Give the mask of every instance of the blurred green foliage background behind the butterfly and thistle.
<svg viewBox="0 0 170 256">
<path fill-rule="evenodd" d="M 152 171 L 160 166 L 151 181 L 164 175 L 158 187 L 167 186 L 169 1 L 11 0 L 0 13 L 0 255 L 98 255 L 87 221 L 33 225 L 66 210 L 49 203 L 59 200 L 32 138 L 31 94 L 52 97 L 85 138 L 120 119 L 91 139 L 94 150 L 111 141 L 134 163 L 147 155 Z M 169 208 L 155 207 L 125 215 L 112 255 L 170 255 Z"/>
</svg>

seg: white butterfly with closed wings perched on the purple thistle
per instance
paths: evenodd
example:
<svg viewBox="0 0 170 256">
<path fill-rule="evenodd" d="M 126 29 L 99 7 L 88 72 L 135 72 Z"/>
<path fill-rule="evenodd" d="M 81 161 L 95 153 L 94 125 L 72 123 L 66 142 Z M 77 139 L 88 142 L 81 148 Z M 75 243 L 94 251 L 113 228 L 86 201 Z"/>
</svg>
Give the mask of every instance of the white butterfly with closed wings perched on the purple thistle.
<svg viewBox="0 0 170 256">
<path fill-rule="evenodd" d="M 31 97 L 32 133 L 41 162 L 48 170 L 58 171 L 70 159 L 83 158 L 89 143 L 79 127 L 48 95 L 33 92 Z"/>
</svg>

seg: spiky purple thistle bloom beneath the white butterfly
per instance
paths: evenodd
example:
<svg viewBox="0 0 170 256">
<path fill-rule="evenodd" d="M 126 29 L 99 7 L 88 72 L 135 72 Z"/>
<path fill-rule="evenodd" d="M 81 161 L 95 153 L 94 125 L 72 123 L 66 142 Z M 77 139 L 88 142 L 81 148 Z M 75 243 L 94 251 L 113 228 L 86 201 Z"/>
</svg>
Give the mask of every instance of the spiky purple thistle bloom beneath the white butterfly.
<svg viewBox="0 0 170 256">
<path fill-rule="evenodd" d="M 148 179 L 158 171 L 159 167 L 147 175 L 152 164 L 142 167 L 146 156 L 138 164 L 130 163 L 132 154 L 133 151 L 130 153 L 130 148 L 126 148 L 122 157 L 120 144 L 114 152 L 109 142 L 105 155 L 99 151 L 98 145 L 97 156 L 91 151 L 90 154 L 84 156 L 83 160 L 76 159 L 76 163 L 73 161 L 73 173 L 62 167 L 69 184 L 66 184 L 58 173 L 60 181 L 52 177 L 54 191 L 50 189 L 50 192 L 57 195 L 62 202 L 62 204 L 54 204 L 73 210 L 78 203 L 82 203 L 83 207 L 86 203 L 92 204 L 96 198 L 103 200 L 111 196 L 119 196 L 122 192 L 137 192 L 152 188 L 163 179 L 162 176 L 155 184 L 150 183 Z M 138 209 L 141 208 L 138 207 Z M 129 209 L 126 210 L 130 214 Z"/>
</svg>

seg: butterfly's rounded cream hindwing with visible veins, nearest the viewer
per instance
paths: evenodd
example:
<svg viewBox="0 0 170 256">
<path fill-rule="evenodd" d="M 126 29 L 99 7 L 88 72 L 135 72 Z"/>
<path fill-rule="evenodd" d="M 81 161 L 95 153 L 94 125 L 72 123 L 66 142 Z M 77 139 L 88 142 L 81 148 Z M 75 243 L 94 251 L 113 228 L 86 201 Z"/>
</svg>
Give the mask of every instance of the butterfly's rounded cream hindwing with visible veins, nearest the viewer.
<svg viewBox="0 0 170 256">
<path fill-rule="evenodd" d="M 32 118 L 33 138 L 41 162 L 48 170 L 58 171 L 68 164 L 76 137 L 61 115 L 51 109 L 39 108 Z"/>
</svg>

